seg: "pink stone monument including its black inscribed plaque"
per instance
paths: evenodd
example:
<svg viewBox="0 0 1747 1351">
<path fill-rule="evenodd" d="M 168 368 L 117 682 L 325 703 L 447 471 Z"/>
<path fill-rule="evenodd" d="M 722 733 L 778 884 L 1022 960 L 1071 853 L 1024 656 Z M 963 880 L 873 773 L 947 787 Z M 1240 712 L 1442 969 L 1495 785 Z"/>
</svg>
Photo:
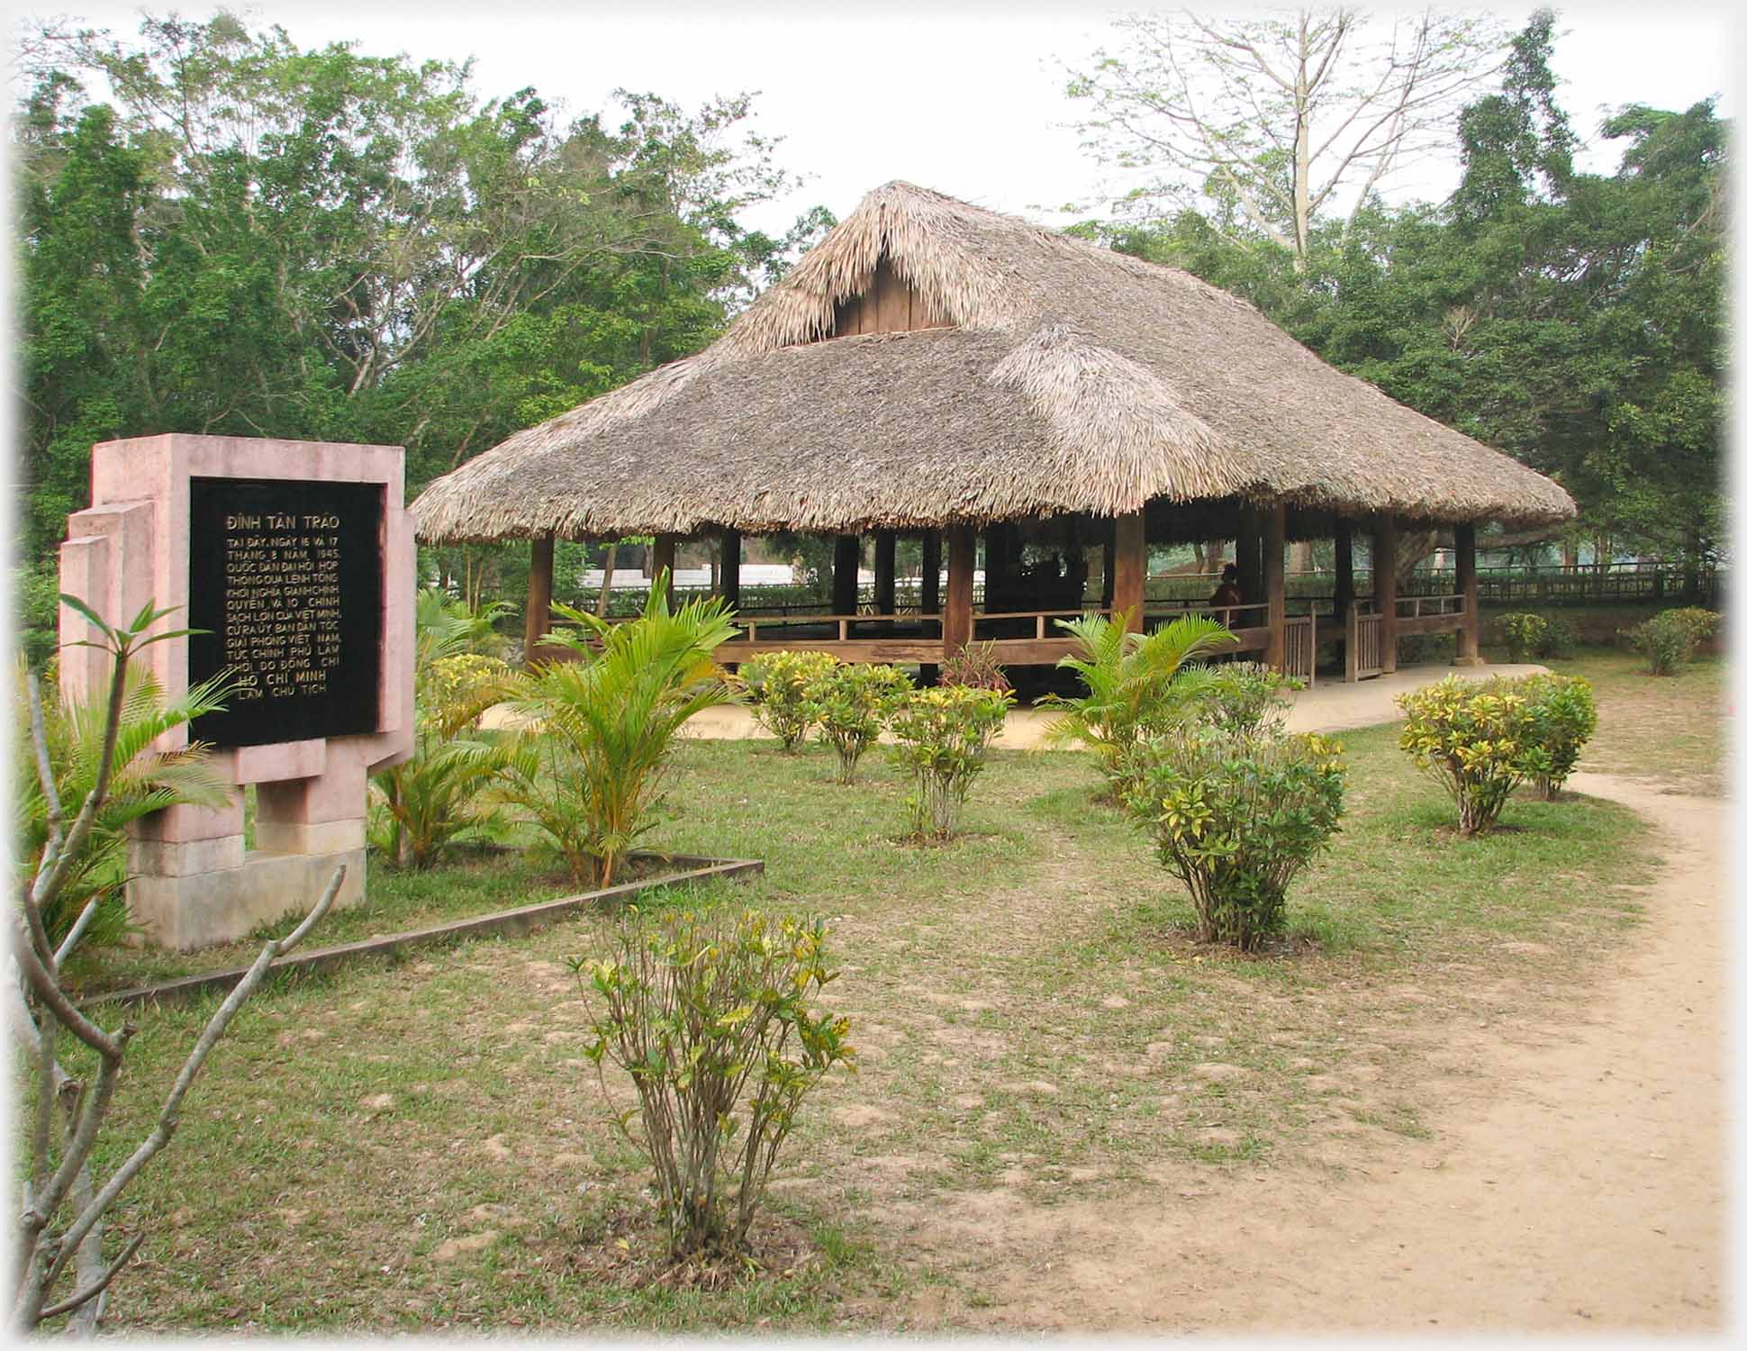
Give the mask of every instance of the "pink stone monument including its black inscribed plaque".
<svg viewBox="0 0 1747 1351">
<path fill-rule="evenodd" d="M 91 507 L 68 517 L 61 591 L 110 624 L 147 601 L 203 634 L 142 654 L 166 699 L 229 669 L 225 711 L 192 739 L 238 792 L 168 807 L 128 844 L 128 904 L 152 942 L 201 947 L 365 884 L 369 776 L 412 752 L 412 521 L 398 446 L 161 435 L 91 453 Z M 61 606 L 61 641 L 89 624 Z M 108 657 L 63 647 L 61 689 L 101 699 Z M 166 734 L 159 750 L 190 739 Z M 255 785 L 255 848 L 243 848 Z"/>
</svg>

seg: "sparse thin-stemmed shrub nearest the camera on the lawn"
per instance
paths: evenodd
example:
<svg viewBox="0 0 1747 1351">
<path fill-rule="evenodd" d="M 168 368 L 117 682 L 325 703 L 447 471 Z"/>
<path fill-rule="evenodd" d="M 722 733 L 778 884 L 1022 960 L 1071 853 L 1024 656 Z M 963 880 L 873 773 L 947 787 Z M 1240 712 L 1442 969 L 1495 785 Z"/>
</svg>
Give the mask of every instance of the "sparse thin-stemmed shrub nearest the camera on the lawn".
<svg viewBox="0 0 1747 1351">
<path fill-rule="evenodd" d="M 853 1064 L 849 1019 L 807 1005 L 837 975 L 825 935 L 753 911 L 632 911 L 608 960 L 571 963 L 592 996 L 589 1057 L 636 1087 L 638 1108 L 613 1120 L 655 1167 L 674 1258 L 744 1248 L 802 1099 Z"/>
</svg>

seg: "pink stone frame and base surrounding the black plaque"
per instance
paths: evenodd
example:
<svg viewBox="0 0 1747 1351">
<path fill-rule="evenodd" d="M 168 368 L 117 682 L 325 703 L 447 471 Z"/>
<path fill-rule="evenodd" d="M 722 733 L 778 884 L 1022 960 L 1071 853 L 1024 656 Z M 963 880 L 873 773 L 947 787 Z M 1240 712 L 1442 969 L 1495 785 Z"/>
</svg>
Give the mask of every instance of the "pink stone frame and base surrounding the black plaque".
<svg viewBox="0 0 1747 1351">
<path fill-rule="evenodd" d="M 332 867 L 346 865 L 339 904 L 363 898 L 369 776 L 412 753 L 412 608 L 416 545 L 398 446 L 161 435 L 107 440 L 91 451 L 91 507 L 68 517 L 61 591 L 112 624 L 147 599 L 182 627 L 189 605 L 189 479 L 287 479 L 383 486 L 383 647 L 376 731 L 213 753 L 232 785 L 257 785 L 255 842 L 243 851 L 243 795 L 220 809 L 169 807 L 138 823 L 129 842 L 129 905 L 150 939 L 196 947 L 243 937 L 314 904 Z M 355 598 L 342 598 L 356 603 Z M 61 606 L 61 641 L 89 638 Z M 145 661 L 166 697 L 189 685 L 187 640 L 154 643 Z M 65 647 L 61 690 L 103 697 L 108 659 Z M 187 745 L 168 732 L 159 750 Z"/>
</svg>

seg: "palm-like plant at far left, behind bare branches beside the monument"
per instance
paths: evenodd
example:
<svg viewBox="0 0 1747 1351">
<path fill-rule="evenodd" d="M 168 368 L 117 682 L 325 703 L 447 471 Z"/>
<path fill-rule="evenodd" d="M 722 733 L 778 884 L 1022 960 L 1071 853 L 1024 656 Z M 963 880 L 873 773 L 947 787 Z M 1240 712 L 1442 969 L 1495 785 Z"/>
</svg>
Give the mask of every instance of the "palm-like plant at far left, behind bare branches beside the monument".
<svg viewBox="0 0 1747 1351">
<path fill-rule="evenodd" d="M 37 767 L 30 760 L 30 704 L 24 694 L 28 673 L 19 661 L 16 722 L 19 748 L 14 766 L 12 837 L 17 841 L 19 876 L 35 876 L 49 839 L 49 800 L 42 792 Z M 128 884 L 126 827 L 154 811 L 189 804 L 222 807 L 231 800 L 231 786 L 211 769 L 206 746 L 192 741 L 182 750 L 152 752 L 150 745 L 204 713 L 224 708 L 229 673 L 190 687 L 180 699 L 164 703 L 157 680 L 142 666 L 129 666 L 115 746 L 110 752 L 108 793 L 91 823 L 86 848 L 68 863 L 59 893 L 44 905 L 42 923 L 56 944 L 66 937 L 86 904 L 100 905 L 86 930 L 86 946 L 121 942 L 129 930 L 124 890 Z M 108 717 L 108 690 L 101 699 L 45 699 L 42 710 L 44 745 L 54 792 L 61 802 L 84 802 L 98 781 L 103 760 L 103 732 Z"/>
</svg>

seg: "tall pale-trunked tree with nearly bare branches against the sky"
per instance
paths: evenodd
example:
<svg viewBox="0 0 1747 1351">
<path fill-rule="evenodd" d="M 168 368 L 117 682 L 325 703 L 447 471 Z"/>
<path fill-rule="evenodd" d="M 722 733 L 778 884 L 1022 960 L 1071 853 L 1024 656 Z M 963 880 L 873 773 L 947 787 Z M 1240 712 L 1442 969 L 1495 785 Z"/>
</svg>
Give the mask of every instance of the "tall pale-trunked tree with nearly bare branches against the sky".
<svg viewBox="0 0 1747 1351">
<path fill-rule="evenodd" d="M 1373 24 L 1387 24 L 1368 42 Z M 1188 10 L 1116 21 L 1123 47 L 1069 70 L 1092 105 L 1080 124 L 1101 163 L 1151 177 L 1122 206 L 1202 208 L 1221 231 L 1260 234 L 1305 267 L 1315 222 L 1347 222 L 1387 178 L 1440 145 L 1462 100 L 1497 73 L 1490 21 L 1371 19 L 1347 9 L 1205 19 Z"/>
</svg>

